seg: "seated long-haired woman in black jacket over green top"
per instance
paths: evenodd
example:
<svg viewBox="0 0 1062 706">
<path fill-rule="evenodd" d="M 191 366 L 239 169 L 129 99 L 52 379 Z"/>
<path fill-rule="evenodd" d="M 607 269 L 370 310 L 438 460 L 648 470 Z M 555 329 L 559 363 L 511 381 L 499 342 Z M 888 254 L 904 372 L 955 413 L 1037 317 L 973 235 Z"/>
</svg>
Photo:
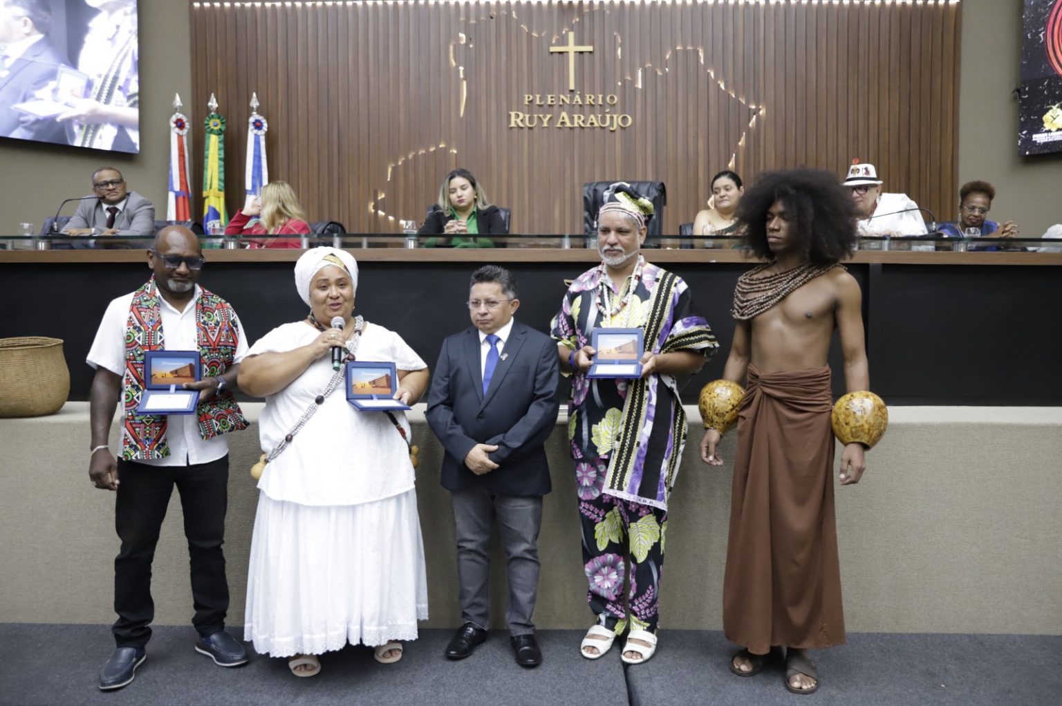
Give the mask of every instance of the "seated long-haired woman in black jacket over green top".
<svg viewBox="0 0 1062 706">
<path fill-rule="evenodd" d="M 467 169 L 455 169 L 439 187 L 435 208 L 417 233 L 428 238 L 425 247 L 494 247 L 494 241 L 479 236 L 508 236 L 509 226 L 497 206 Z"/>
</svg>

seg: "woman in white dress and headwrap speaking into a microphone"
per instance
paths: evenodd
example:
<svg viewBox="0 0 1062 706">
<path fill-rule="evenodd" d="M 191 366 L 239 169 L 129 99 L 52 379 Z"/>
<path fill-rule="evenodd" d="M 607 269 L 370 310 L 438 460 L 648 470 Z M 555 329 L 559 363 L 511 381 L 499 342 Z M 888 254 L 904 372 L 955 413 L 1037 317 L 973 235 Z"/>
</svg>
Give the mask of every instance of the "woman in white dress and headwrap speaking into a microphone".
<svg viewBox="0 0 1062 706">
<path fill-rule="evenodd" d="M 329 351 L 345 346 L 357 360 L 395 363 L 395 397 L 407 404 L 425 392 L 428 368 L 397 333 L 354 315 L 358 265 L 347 253 L 307 251 L 295 285 L 310 314 L 267 333 L 240 366 L 240 389 L 266 398 L 259 427 L 269 454 L 244 639 L 312 676 L 316 655 L 347 642 L 397 661 L 398 640 L 416 639 L 416 621 L 428 617 L 409 423 L 401 412 L 348 403 Z M 328 327 L 336 316 L 342 330 Z"/>
</svg>

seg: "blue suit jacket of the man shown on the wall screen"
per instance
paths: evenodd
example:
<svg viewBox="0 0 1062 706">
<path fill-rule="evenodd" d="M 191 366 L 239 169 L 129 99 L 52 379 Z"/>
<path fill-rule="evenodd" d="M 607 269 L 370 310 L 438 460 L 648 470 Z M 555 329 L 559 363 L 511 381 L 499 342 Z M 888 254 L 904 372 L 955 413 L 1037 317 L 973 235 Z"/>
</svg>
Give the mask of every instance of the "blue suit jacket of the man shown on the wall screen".
<svg viewBox="0 0 1062 706">
<path fill-rule="evenodd" d="M 0 137 L 69 143 L 65 123 L 56 122 L 55 118 L 35 118 L 11 107 L 36 98 L 34 93 L 55 81 L 59 65 L 65 63 L 48 37 L 42 37 L 15 59 L 6 75 L 0 76 Z"/>
</svg>

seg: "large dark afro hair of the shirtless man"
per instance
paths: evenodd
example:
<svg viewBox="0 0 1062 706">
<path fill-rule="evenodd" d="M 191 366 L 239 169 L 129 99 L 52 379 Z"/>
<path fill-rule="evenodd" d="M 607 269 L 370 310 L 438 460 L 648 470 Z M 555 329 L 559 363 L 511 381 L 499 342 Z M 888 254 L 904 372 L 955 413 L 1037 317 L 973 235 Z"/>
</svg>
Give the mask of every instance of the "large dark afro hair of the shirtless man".
<svg viewBox="0 0 1062 706">
<path fill-rule="evenodd" d="M 737 218 L 754 255 L 774 259 L 767 244 L 767 211 L 776 201 L 795 214 L 796 242 L 812 264 L 832 264 L 852 255 L 858 237 L 852 195 L 837 176 L 819 169 L 768 172 L 746 189 Z"/>
</svg>

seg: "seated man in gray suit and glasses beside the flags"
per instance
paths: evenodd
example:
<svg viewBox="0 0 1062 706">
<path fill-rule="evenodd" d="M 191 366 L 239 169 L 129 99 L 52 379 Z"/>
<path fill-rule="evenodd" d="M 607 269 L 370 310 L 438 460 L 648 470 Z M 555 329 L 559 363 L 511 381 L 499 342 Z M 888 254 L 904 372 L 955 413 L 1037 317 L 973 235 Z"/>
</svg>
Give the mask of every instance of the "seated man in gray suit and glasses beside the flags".
<svg viewBox="0 0 1062 706">
<path fill-rule="evenodd" d="M 81 201 L 63 234 L 67 236 L 151 236 L 155 233 L 155 207 L 150 201 L 130 191 L 121 172 L 101 167 L 92 172 L 96 199 Z M 150 241 L 124 241 L 123 247 L 148 247 Z M 112 245 L 114 246 L 114 245 Z M 106 247 L 102 241 L 74 244 L 76 248 Z"/>
</svg>

